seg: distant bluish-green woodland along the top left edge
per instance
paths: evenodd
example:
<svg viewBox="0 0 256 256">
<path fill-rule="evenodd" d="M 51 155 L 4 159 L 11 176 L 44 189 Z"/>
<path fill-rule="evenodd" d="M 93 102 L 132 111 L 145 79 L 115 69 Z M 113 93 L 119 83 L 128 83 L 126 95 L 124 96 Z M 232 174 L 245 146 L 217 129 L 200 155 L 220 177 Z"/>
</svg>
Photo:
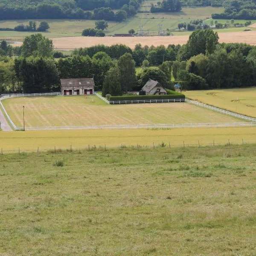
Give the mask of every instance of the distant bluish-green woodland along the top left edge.
<svg viewBox="0 0 256 256">
<path fill-rule="evenodd" d="M 125 20 L 135 15 L 139 0 L 0 0 L 0 20 L 10 19 L 88 19 Z M 116 13 L 114 9 L 119 9 Z"/>
</svg>

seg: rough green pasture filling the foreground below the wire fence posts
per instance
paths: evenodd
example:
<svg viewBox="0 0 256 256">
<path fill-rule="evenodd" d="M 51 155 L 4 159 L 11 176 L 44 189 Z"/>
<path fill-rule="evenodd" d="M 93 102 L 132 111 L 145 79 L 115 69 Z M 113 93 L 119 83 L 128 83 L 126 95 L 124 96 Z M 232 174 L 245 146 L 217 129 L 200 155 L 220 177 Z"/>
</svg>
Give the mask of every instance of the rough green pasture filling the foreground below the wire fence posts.
<svg viewBox="0 0 256 256">
<path fill-rule="evenodd" d="M 0 254 L 254 255 L 255 153 L 254 144 L 0 155 Z"/>
</svg>

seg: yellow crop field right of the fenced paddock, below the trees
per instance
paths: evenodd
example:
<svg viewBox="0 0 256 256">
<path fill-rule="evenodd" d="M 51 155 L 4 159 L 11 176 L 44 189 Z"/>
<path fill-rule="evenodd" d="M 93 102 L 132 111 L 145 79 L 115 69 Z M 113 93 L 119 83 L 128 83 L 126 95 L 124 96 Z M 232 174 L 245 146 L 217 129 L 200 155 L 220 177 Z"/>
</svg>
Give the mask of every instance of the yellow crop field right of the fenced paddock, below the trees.
<svg viewBox="0 0 256 256">
<path fill-rule="evenodd" d="M 256 117 L 256 87 L 183 92 L 189 99 Z"/>
</svg>

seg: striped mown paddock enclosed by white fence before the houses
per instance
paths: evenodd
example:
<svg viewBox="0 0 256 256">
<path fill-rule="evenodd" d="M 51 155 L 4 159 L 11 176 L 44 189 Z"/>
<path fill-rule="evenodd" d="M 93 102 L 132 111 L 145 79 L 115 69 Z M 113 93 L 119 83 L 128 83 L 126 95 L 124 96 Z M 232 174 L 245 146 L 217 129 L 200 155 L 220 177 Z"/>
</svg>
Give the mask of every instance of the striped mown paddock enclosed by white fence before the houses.
<svg viewBox="0 0 256 256">
<path fill-rule="evenodd" d="M 188 103 L 107 105 L 96 96 L 25 97 L 3 100 L 17 126 L 223 123 L 241 120 Z"/>
</svg>

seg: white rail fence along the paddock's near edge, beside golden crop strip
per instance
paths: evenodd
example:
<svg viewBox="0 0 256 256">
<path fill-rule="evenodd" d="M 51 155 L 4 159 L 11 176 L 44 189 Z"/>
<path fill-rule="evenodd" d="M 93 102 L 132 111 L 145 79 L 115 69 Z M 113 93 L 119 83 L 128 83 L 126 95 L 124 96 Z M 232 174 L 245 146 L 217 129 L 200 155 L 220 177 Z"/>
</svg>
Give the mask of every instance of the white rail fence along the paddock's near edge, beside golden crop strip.
<svg viewBox="0 0 256 256">
<path fill-rule="evenodd" d="M 151 125 L 84 125 L 84 126 L 47 126 L 25 127 L 25 130 L 98 130 L 98 129 L 154 129 L 154 128 L 221 128 L 221 127 L 253 127 L 253 122 L 237 123 L 191 123 L 191 124 L 151 124 Z M 23 129 L 23 127 L 17 127 Z"/>
</svg>

